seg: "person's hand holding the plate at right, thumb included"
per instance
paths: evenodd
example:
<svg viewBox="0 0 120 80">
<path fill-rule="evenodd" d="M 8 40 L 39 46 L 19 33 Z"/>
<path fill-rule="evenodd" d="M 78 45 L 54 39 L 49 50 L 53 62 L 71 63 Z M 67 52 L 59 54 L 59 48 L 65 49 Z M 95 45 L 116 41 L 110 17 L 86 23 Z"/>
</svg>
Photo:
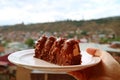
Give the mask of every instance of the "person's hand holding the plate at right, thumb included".
<svg viewBox="0 0 120 80">
<path fill-rule="evenodd" d="M 77 80 L 120 80 L 120 64 L 107 52 L 100 49 L 88 48 L 89 54 L 101 58 L 95 66 L 68 72 Z"/>
</svg>

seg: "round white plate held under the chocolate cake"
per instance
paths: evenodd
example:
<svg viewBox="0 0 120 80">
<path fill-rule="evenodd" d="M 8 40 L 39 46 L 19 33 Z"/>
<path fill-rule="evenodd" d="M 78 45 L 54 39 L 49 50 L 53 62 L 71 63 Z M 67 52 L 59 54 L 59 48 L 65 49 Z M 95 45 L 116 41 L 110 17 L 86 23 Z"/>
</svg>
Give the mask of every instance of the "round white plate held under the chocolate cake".
<svg viewBox="0 0 120 80">
<path fill-rule="evenodd" d="M 22 50 L 12 53 L 8 59 L 13 64 L 29 69 L 50 71 L 50 72 L 69 72 L 74 70 L 81 70 L 90 66 L 98 64 L 101 59 L 99 57 L 92 57 L 87 52 L 82 51 L 82 64 L 71 66 L 59 66 L 48 63 L 46 61 L 34 58 L 34 49 Z"/>
</svg>

